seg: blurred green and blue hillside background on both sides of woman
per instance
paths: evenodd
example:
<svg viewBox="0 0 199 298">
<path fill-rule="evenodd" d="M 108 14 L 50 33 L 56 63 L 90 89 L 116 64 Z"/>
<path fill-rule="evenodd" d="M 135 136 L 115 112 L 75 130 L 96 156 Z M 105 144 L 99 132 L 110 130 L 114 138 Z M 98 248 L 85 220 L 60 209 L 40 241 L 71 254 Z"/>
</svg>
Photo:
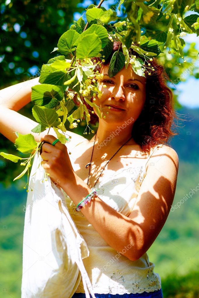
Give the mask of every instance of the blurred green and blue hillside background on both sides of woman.
<svg viewBox="0 0 199 298">
<path fill-rule="evenodd" d="M 199 185 L 199 109 L 183 108 L 178 113 L 183 117 L 186 115 L 187 121 L 179 124 L 179 135 L 169 144 L 179 156 L 173 209 L 148 255 L 150 262 L 155 263 L 154 271 L 161 276 L 164 298 L 196 298 L 199 297 L 199 194 L 194 189 Z M 24 206 L 27 197 L 22 190 L 23 185 L 23 181 L 16 181 L 6 189 L 0 184 L 0 280 L 2 297 L 5 298 L 18 298 L 21 291 Z M 189 193 L 191 198 L 183 200 Z"/>
</svg>

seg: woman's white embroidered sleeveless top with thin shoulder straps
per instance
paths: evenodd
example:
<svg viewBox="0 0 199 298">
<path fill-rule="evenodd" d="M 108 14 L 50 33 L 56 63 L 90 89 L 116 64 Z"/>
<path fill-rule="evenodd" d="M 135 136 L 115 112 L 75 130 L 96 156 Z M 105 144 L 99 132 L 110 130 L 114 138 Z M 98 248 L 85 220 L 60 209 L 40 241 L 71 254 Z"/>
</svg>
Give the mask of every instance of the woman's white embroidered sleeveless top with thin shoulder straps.
<svg viewBox="0 0 199 298">
<path fill-rule="evenodd" d="M 146 163 L 156 148 L 151 148 L 146 158 L 135 158 L 134 166 L 123 167 L 118 171 L 107 170 L 99 178 L 92 190 L 98 190 L 97 195 L 113 209 L 129 216 L 141 186 L 146 176 Z M 74 169 L 75 170 L 75 169 Z M 85 181 L 87 183 L 87 181 Z M 98 234 L 87 218 L 75 210 L 75 204 L 62 190 L 66 198 L 69 213 L 83 236 L 89 249 L 89 257 L 83 259 L 87 274 L 92 283 L 94 293 L 98 294 L 130 294 L 158 291 L 161 289 L 161 279 L 154 273 L 154 263 L 149 262 L 147 253 L 136 261 L 117 252 Z M 128 244 L 126 249 L 130 249 Z M 85 293 L 82 280 L 76 293 Z"/>
</svg>

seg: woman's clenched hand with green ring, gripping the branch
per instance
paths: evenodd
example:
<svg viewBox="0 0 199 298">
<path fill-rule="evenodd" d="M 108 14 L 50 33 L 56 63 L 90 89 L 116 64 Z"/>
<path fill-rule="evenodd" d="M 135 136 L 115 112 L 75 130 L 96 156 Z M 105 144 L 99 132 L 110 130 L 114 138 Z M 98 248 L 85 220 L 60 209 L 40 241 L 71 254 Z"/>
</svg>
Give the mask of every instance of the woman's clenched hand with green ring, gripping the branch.
<svg viewBox="0 0 199 298">
<path fill-rule="evenodd" d="M 59 180 L 59 186 L 63 186 L 68 183 L 74 176 L 74 170 L 70 162 L 70 158 L 65 145 L 61 142 L 57 142 L 54 146 L 52 143 L 56 138 L 52 135 L 41 136 L 41 142 L 46 141 L 42 145 L 41 162 L 44 170 L 50 174 L 50 178 L 53 182 Z"/>
</svg>

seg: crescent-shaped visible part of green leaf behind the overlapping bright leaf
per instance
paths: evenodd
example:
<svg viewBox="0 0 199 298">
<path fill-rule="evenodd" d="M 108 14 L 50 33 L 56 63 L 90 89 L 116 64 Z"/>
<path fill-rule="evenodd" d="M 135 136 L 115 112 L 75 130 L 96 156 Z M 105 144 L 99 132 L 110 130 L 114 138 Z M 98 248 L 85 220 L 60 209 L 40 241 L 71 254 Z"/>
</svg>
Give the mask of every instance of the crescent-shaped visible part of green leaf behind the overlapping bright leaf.
<svg viewBox="0 0 199 298">
<path fill-rule="evenodd" d="M 78 44 L 81 43 L 81 40 L 82 40 L 82 38 L 84 38 L 85 35 L 92 34 L 92 33 L 95 33 L 98 35 L 98 37 L 101 40 L 101 49 L 103 49 L 109 40 L 108 32 L 107 32 L 106 28 L 104 28 L 100 25 L 96 25 L 96 24 L 92 24 L 86 31 L 84 31 L 80 35 L 80 37 L 78 38 Z"/>
</svg>

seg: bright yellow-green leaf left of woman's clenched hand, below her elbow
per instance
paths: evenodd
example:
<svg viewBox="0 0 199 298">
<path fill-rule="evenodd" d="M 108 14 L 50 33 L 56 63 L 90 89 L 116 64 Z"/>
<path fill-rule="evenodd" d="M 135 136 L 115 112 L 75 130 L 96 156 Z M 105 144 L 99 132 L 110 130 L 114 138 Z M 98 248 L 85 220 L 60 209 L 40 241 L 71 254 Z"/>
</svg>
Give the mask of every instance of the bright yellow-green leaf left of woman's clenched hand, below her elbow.
<svg viewBox="0 0 199 298">
<path fill-rule="evenodd" d="M 15 146 L 22 153 L 32 153 L 37 147 L 37 142 L 32 134 L 19 134 L 15 140 Z"/>
</svg>

